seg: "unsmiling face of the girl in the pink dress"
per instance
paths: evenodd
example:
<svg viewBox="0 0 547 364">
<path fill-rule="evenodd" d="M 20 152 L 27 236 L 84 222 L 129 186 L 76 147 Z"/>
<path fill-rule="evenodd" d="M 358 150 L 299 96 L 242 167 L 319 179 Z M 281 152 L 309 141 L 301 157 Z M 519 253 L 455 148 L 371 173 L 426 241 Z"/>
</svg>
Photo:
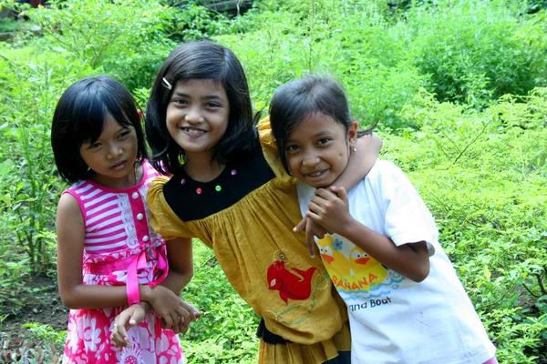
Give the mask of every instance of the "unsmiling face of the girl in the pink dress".
<svg viewBox="0 0 547 364">
<path fill-rule="evenodd" d="M 121 126 L 107 115 L 98 139 L 84 143 L 79 151 L 84 162 L 96 175 L 94 179 L 105 187 L 135 185 L 134 164 L 137 158 L 137 134 L 133 126 Z"/>
</svg>

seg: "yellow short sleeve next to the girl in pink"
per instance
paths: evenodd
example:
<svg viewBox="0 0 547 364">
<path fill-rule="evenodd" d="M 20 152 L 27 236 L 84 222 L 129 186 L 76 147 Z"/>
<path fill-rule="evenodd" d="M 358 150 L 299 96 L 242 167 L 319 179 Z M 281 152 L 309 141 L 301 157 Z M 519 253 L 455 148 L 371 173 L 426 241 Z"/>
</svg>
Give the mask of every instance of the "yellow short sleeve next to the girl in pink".
<svg viewBox="0 0 547 364">
<path fill-rule="evenodd" d="M 157 177 L 150 183 L 147 203 L 150 209 L 150 227 L 165 240 L 194 238 L 195 234 L 170 208 L 163 196 L 163 186 L 169 177 Z"/>
</svg>

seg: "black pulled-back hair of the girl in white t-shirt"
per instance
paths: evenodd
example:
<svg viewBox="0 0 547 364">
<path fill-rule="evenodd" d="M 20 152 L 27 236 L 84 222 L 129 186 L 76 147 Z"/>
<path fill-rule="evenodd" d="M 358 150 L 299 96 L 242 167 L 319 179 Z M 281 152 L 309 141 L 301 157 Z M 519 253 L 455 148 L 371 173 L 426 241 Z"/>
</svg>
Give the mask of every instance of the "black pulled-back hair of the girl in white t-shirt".
<svg viewBox="0 0 547 364">
<path fill-rule="evenodd" d="M 286 140 L 296 126 L 315 114 L 332 117 L 336 123 L 344 126 L 346 133 L 354 122 L 344 89 L 329 77 L 305 76 L 290 81 L 279 87 L 272 97 L 270 123 L 277 143 L 277 153 L 288 174 Z M 370 134 L 375 126 L 358 131 L 357 136 Z"/>
</svg>

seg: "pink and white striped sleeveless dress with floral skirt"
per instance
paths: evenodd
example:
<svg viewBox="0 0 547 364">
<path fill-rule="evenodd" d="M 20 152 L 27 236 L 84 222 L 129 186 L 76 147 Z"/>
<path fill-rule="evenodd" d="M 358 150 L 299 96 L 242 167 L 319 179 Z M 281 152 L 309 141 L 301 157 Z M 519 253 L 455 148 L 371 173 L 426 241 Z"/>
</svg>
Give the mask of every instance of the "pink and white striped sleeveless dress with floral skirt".
<svg viewBox="0 0 547 364">
<path fill-rule="evenodd" d="M 84 284 L 126 285 L 131 298 L 135 298 L 138 284 L 153 287 L 168 270 L 165 241 L 149 226 L 146 205 L 150 182 L 160 174 L 148 161 L 142 166 L 143 177 L 133 187 L 113 189 L 86 179 L 63 192 L 77 199 L 84 217 Z M 161 329 L 160 318 L 153 312 L 129 329 L 130 348 L 114 347 L 110 330 L 125 308 L 71 309 L 63 363 L 184 362 L 178 335 Z"/>
</svg>

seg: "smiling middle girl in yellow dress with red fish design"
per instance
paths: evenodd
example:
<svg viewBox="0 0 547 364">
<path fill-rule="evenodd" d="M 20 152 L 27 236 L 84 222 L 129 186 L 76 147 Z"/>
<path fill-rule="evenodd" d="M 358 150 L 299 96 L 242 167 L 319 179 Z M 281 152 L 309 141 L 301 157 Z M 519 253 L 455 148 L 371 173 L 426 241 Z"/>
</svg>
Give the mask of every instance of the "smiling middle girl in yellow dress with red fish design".
<svg viewBox="0 0 547 364">
<path fill-rule="evenodd" d="M 294 178 L 267 120 L 258 128 L 255 120 L 243 67 L 229 49 L 176 48 L 147 107 L 154 166 L 172 175 L 150 185 L 150 225 L 165 239 L 200 238 L 214 250 L 263 318 L 260 363 L 349 362 L 346 308 L 304 233 L 293 232 L 301 220 Z M 359 144 L 341 186 L 353 186 L 377 159 L 377 136 Z"/>
</svg>

